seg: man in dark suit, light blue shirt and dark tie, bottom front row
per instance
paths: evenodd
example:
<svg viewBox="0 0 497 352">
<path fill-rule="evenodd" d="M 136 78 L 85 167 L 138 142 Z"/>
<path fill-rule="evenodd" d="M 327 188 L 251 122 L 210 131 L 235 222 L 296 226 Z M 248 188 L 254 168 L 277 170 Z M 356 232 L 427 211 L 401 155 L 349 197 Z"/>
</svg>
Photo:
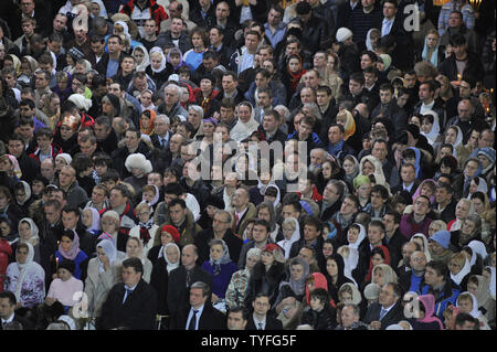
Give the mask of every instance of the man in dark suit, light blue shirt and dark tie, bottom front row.
<svg viewBox="0 0 497 352">
<path fill-rule="evenodd" d="M 225 330 L 224 314 L 212 307 L 211 288 L 202 281 L 190 288 L 190 307 L 178 310 L 171 322 L 171 330 Z"/>
</svg>

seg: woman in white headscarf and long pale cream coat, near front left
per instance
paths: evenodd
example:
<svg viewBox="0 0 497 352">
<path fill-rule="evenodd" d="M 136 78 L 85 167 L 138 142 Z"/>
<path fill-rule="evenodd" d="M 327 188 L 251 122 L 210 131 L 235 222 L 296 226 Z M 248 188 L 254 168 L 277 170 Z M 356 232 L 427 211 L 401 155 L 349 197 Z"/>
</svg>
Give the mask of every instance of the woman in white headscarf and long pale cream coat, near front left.
<svg viewBox="0 0 497 352">
<path fill-rule="evenodd" d="M 102 305 L 113 286 L 121 280 L 120 264 L 124 254 L 116 249 L 110 239 L 101 241 L 96 258 L 89 259 L 85 280 L 85 294 L 88 297 L 89 317 L 99 317 Z M 119 258 L 120 257 L 120 258 Z"/>
</svg>

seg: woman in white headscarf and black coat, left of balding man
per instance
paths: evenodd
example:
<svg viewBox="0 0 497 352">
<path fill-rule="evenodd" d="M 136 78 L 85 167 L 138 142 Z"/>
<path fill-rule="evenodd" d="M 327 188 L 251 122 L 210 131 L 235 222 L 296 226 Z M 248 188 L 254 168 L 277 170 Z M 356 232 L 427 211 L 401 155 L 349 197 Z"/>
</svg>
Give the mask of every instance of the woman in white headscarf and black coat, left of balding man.
<svg viewBox="0 0 497 352">
<path fill-rule="evenodd" d="M 161 256 L 154 263 L 150 286 L 157 292 L 159 302 L 158 313 L 167 316 L 170 313 L 167 300 L 169 273 L 180 266 L 181 252 L 176 243 L 170 242 L 163 246 L 160 253 Z"/>
</svg>

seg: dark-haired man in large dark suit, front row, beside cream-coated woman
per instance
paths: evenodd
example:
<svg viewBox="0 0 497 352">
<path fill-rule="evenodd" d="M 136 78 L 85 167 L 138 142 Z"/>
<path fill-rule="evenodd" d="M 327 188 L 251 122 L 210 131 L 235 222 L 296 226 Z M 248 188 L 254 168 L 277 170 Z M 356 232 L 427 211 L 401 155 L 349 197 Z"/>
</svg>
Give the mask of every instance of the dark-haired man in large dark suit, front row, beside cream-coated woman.
<svg viewBox="0 0 497 352">
<path fill-rule="evenodd" d="M 114 285 L 102 306 L 99 330 L 126 328 L 152 330 L 156 328 L 157 294 L 141 279 L 144 265 L 138 258 L 123 262 L 123 282 Z"/>
</svg>

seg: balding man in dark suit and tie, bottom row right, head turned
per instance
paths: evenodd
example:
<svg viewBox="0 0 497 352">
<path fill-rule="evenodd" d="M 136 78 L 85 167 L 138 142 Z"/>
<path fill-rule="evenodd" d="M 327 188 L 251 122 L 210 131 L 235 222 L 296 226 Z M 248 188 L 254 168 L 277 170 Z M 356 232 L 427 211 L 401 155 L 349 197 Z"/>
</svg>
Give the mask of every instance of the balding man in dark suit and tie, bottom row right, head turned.
<svg viewBox="0 0 497 352">
<path fill-rule="evenodd" d="M 385 330 L 388 327 L 404 319 L 403 308 L 400 303 L 402 288 L 398 284 L 385 284 L 380 290 L 378 302 L 369 306 L 364 322 L 372 330 Z"/>
</svg>

